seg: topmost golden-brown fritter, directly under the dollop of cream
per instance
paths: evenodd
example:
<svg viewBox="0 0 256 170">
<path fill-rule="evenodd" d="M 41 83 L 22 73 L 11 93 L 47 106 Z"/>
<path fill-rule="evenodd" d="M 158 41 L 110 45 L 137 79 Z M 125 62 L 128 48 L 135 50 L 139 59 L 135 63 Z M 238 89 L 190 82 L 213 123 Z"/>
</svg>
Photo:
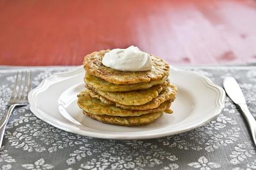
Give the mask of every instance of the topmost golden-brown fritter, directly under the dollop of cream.
<svg viewBox="0 0 256 170">
<path fill-rule="evenodd" d="M 104 79 L 114 84 L 135 84 L 159 80 L 169 74 L 169 64 L 158 57 L 150 55 L 152 59 L 152 69 L 142 72 L 125 72 L 106 67 L 102 64 L 104 54 L 110 50 L 101 50 L 85 56 L 83 67 L 88 74 Z"/>
</svg>

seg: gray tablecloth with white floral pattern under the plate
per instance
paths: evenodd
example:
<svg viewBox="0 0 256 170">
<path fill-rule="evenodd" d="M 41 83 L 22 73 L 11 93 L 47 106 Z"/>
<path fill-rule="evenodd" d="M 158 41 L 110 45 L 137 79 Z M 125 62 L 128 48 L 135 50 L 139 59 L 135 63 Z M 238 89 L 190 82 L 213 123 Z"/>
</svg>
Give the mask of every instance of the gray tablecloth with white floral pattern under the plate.
<svg viewBox="0 0 256 170">
<path fill-rule="evenodd" d="M 67 67 L 33 68 L 33 87 Z M 256 116 L 256 67 L 186 67 L 221 86 L 234 76 Z M 0 119 L 7 112 L 17 70 L 0 69 Z M 203 101 L 202 101 L 203 102 Z M 29 105 L 14 110 L 0 151 L 3 169 L 256 169 L 256 152 L 246 124 L 227 97 L 214 121 L 158 139 L 117 141 L 80 136 L 40 119 Z"/>
</svg>

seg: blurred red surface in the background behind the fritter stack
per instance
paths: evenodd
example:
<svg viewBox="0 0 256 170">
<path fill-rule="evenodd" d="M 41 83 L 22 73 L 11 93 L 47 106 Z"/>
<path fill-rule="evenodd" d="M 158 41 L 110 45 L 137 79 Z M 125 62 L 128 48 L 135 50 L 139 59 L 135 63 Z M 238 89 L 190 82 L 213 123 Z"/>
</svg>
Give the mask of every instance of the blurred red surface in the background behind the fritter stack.
<svg viewBox="0 0 256 170">
<path fill-rule="evenodd" d="M 256 60 L 256 1 L 0 0 L 1 65 L 76 65 L 131 44 L 170 64 Z"/>
</svg>

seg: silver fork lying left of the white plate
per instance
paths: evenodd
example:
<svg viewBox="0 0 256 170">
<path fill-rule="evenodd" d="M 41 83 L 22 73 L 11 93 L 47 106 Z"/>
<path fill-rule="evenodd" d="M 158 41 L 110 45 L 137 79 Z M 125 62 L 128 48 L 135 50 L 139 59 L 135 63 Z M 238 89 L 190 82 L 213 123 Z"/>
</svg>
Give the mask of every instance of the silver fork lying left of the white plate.
<svg viewBox="0 0 256 170">
<path fill-rule="evenodd" d="M 20 75 L 20 76 L 19 76 Z M 16 73 L 16 79 L 12 89 L 12 96 L 9 100 L 8 112 L 0 121 L 0 148 L 3 142 L 4 131 L 8 123 L 8 119 L 16 106 L 24 106 L 28 104 L 28 93 L 31 90 L 31 72 L 22 71 Z"/>
</svg>

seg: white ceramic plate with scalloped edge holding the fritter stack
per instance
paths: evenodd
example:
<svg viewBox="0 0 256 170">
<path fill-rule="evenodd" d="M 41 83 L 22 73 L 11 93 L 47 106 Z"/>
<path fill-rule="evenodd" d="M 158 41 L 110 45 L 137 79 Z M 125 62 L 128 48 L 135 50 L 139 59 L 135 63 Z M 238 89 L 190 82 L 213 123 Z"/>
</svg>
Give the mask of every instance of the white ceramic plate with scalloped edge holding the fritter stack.
<svg viewBox="0 0 256 170">
<path fill-rule="evenodd" d="M 82 67 L 57 73 L 28 95 L 31 111 L 43 121 L 67 132 L 112 139 L 145 139 L 169 136 L 202 126 L 224 108 L 225 93 L 209 78 L 171 67 L 171 83 L 178 87 L 173 114 L 164 114 L 147 126 L 104 124 L 82 114 L 77 94 L 84 88 Z"/>
</svg>

